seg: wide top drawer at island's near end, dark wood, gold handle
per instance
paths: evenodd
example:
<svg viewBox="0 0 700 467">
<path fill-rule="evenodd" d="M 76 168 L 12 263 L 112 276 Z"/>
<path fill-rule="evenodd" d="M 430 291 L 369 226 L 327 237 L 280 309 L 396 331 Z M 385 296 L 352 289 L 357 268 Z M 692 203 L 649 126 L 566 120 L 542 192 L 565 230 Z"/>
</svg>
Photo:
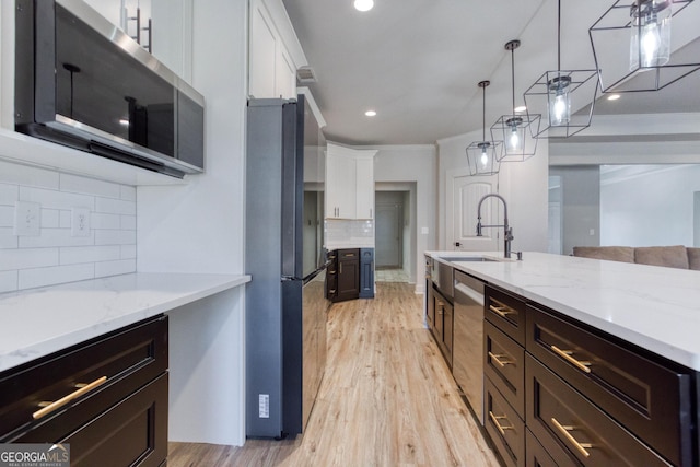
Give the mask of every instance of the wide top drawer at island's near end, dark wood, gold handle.
<svg viewBox="0 0 700 467">
<path fill-rule="evenodd" d="M 691 375 L 600 331 L 532 306 L 527 313 L 529 353 L 673 464 L 692 464 Z"/>
</svg>

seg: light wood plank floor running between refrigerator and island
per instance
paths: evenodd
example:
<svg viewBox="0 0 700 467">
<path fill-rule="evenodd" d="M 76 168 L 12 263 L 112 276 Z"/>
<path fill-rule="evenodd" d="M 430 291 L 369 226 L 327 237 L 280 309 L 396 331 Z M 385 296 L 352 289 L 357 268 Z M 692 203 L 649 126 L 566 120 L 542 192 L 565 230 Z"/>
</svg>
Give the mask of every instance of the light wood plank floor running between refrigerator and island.
<svg viewBox="0 0 700 467">
<path fill-rule="evenodd" d="M 171 443 L 168 467 L 498 466 L 407 283 L 335 304 L 328 364 L 303 436 L 243 447 Z"/>
</svg>

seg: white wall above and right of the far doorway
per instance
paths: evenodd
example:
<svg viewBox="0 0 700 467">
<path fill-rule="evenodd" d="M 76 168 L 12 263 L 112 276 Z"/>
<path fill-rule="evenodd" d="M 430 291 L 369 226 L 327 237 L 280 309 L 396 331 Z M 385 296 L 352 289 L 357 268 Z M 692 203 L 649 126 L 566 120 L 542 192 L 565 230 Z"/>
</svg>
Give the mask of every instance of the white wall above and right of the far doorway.
<svg viewBox="0 0 700 467">
<path fill-rule="evenodd" d="M 435 248 L 435 212 L 438 186 L 435 184 L 436 155 L 432 145 L 385 145 L 373 147 L 378 152 L 374 156 L 374 180 L 376 184 L 416 184 L 415 235 L 416 249 L 410 255 L 410 278 L 416 282 L 416 292 L 423 293 L 425 267 L 423 252 Z M 410 186 L 410 185 L 409 185 Z M 412 197 L 412 196 L 411 196 Z M 423 233 L 427 230 L 428 233 Z"/>
</svg>

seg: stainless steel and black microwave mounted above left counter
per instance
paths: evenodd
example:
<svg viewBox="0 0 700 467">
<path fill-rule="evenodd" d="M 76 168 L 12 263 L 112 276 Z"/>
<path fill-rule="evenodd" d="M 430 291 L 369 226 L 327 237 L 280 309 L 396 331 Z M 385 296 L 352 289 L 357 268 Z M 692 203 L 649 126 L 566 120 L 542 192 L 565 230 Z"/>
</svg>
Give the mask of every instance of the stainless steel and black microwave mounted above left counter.
<svg viewBox="0 0 700 467">
<path fill-rule="evenodd" d="M 81 0 L 16 0 L 15 130 L 183 177 L 205 170 L 205 100 Z"/>
</svg>

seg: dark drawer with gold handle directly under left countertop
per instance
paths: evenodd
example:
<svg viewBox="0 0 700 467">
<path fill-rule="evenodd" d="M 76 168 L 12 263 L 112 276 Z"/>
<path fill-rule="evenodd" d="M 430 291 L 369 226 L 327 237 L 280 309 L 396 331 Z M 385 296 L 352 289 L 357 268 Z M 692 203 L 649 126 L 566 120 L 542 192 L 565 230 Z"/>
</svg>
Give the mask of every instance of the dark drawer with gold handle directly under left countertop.
<svg viewBox="0 0 700 467">
<path fill-rule="evenodd" d="M 30 431 L 44 433 L 44 442 L 57 441 L 166 370 L 165 316 L 8 370 L 0 374 L 0 442 L 16 441 Z M 101 380 L 94 389 L 37 417 L 44 401 L 57 401 Z"/>
</svg>

